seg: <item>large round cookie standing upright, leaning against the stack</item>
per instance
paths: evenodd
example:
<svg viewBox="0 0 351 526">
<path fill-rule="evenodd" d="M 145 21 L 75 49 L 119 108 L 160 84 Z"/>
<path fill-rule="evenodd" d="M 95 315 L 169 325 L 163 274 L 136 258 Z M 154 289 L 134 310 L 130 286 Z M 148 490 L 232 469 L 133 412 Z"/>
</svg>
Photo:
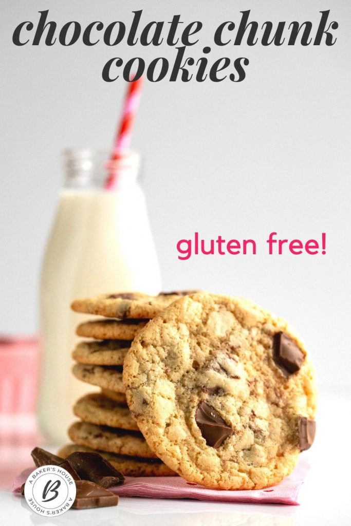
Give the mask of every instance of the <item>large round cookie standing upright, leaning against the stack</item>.
<svg viewBox="0 0 351 526">
<path fill-rule="evenodd" d="M 288 323 L 249 300 L 195 294 L 132 343 L 123 381 L 153 451 L 188 481 L 259 489 L 313 441 L 315 385 Z"/>
</svg>

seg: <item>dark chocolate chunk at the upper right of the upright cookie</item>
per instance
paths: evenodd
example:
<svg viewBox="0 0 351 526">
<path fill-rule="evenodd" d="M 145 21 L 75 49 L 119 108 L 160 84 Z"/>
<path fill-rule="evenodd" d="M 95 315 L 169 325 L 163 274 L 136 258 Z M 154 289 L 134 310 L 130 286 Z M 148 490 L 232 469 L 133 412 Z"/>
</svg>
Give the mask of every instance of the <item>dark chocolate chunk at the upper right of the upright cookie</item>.
<svg viewBox="0 0 351 526">
<path fill-rule="evenodd" d="M 273 359 L 276 365 L 289 376 L 300 369 L 305 355 L 285 332 L 277 332 L 273 338 Z"/>
</svg>

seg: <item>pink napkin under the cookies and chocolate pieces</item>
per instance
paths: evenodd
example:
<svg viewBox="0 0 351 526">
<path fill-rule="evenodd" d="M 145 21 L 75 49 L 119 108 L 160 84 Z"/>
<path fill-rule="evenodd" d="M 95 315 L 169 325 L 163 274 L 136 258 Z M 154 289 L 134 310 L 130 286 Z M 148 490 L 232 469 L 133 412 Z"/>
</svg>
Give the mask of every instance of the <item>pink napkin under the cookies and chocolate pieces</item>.
<svg viewBox="0 0 351 526">
<path fill-rule="evenodd" d="M 181 477 L 126 477 L 121 486 L 109 488 L 121 497 L 147 497 L 151 499 L 197 499 L 218 502 L 257 502 L 297 505 L 297 495 L 302 485 L 309 464 L 300 458 L 297 467 L 280 484 L 264 490 L 210 490 L 186 482 Z M 13 491 L 21 491 L 21 485 L 26 481 L 33 468 L 26 469 L 13 483 Z"/>
</svg>

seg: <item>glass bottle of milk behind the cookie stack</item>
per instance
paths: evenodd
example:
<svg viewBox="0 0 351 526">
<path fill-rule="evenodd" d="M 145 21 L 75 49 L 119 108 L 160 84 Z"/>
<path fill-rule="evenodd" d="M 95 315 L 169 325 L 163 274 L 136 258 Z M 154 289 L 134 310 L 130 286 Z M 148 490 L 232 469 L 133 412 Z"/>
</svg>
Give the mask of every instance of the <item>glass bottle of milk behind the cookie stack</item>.
<svg viewBox="0 0 351 526">
<path fill-rule="evenodd" d="M 40 309 L 42 367 L 38 422 L 46 440 L 67 441 L 72 406 L 97 388 L 71 372 L 78 323 L 94 319 L 73 312 L 75 298 L 105 292 L 157 294 L 161 278 L 145 198 L 138 183 L 140 159 L 127 151 L 109 163 L 113 190 L 104 189 L 107 154 L 70 150 L 65 185 L 42 267 Z"/>
</svg>

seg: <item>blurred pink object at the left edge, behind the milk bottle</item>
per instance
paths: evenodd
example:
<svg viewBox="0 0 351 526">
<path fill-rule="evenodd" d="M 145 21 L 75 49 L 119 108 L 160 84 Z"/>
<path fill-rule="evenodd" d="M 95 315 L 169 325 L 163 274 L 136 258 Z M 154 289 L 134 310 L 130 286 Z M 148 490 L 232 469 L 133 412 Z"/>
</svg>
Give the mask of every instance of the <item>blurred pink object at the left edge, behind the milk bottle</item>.
<svg viewBox="0 0 351 526">
<path fill-rule="evenodd" d="M 0 336 L 0 415 L 35 411 L 38 379 L 36 338 Z"/>
</svg>

